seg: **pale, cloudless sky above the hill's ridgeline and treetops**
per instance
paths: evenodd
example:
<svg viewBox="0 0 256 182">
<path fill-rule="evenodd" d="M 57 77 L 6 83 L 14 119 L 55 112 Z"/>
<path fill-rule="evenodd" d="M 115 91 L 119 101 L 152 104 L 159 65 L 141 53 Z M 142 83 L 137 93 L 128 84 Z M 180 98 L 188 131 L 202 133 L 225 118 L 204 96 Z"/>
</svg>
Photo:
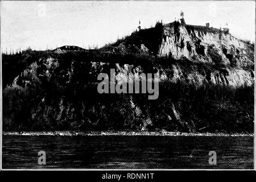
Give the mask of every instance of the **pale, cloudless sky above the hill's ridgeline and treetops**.
<svg viewBox="0 0 256 182">
<path fill-rule="evenodd" d="M 3 52 L 28 47 L 45 50 L 64 45 L 101 47 L 157 20 L 173 22 L 184 12 L 187 24 L 220 28 L 228 23 L 237 38 L 255 39 L 255 2 L 46 2 L 1 1 Z"/>
</svg>

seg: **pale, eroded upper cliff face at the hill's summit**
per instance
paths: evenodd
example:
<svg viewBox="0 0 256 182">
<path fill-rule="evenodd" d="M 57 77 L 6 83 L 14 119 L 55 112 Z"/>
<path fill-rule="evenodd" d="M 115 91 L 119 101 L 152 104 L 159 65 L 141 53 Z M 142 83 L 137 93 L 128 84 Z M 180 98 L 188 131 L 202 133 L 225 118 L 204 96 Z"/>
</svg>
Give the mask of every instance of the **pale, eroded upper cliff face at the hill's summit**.
<svg viewBox="0 0 256 182">
<path fill-rule="evenodd" d="M 172 55 L 175 59 L 185 56 L 188 59 L 192 59 L 194 56 L 201 56 L 200 58 L 209 57 L 212 58 L 210 52 L 212 49 L 216 49 L 217 53 L 222 57 L 224 65 L 230 65 L 230 60 L 227 55 L 232 54 L 236 56 L 246 55 L 253 56 L 253 50 L 250 46 L 241 40 L 234 38 L 225 31 L 218 30 L 216 28 L 209 28 L 203 26 L 192 25 L 177 25 L 170 23 L 164 25 L 163 39 L 159 48 L 159 56 Z M 205 56 L 205 57 L 204 57 Z M 200 61 L 214 61 L 212 59 Z M 240 60 L 242 64 L 243 60 Z"/>
</svg>

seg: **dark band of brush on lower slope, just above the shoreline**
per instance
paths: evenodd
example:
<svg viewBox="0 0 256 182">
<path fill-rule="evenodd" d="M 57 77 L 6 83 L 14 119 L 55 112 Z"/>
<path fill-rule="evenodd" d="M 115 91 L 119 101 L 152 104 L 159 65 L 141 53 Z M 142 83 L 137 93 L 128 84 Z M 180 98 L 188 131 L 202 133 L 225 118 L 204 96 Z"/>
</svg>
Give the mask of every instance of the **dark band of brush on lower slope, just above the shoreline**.
<svg viewBox="0 0 256 182">
<path fill-rule="evenodd" d="M 253 132 L 253 86 L 238 90 L 160 87 L 158 100 L 147 94 L 84 92 L 46 94 L 24 88 L 3 92 L 3 130 L 147 130 Z M 169 92 L 167 92 L 169 90 Z M 214 93 L 214 94 L 211 94 Z M 228 94 L 227 94 L 228 93 Z M 180 120 L 174 117 L 174 105 Z M 185 124 L 184 124 L 185 123 Z M 202 129 L 203 130 L 200 130 Z"/>
</svg>

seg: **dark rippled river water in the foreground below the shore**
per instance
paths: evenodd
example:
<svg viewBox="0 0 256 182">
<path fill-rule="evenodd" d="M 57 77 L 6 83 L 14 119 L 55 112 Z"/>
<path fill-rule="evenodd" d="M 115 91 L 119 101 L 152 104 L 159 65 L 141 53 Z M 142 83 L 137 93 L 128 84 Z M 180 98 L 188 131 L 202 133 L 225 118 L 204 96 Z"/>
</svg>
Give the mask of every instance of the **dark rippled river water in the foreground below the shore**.
<svg viewBox="0 0 256 182">
<path fill-rule="evenodd" d="M 3 135 L 2 168 L 253 169 L 253 137 Z M 38 152 L 46 152 L 46 165 Z M 209 151 L 217 164 L 210 165 Z"/>
</svg>

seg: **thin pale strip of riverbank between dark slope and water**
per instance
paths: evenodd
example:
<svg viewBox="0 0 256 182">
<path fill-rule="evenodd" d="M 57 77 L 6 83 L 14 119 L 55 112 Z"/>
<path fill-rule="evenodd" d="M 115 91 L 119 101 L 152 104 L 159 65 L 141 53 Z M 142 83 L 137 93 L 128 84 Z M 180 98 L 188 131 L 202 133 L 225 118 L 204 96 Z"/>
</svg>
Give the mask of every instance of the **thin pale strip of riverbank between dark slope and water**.
<svg viewBox="0 0 256 182">
<path fill-rule="evenodd" d="M 122 136 L 188 136 L 188 137 L 253 137 L 253 133 L 181 133 L 171 131 L 3 131 L 3 135 L 53 135 L 53 136 L 108 136 L 108 135 L 122 135 Z"/>
</svg>

